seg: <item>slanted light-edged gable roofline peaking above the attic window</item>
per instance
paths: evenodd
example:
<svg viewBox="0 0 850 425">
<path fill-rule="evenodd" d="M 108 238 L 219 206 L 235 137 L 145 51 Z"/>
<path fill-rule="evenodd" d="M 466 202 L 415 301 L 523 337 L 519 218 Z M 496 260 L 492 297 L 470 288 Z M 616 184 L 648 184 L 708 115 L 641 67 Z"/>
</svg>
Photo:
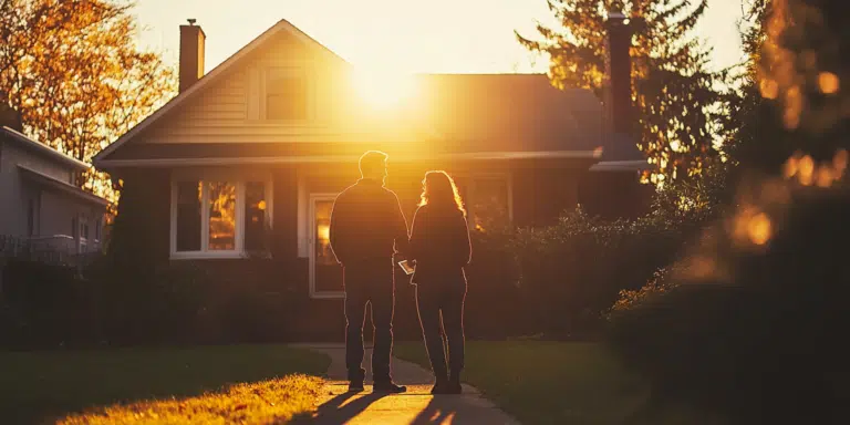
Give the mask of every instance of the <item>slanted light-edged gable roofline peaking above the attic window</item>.
<svg viewBox="0 0 850 425">
<path fill-rule="evenodd" d="M 148 115 L 145 120 L 136 124 L 127 133 L 124 133 L 121 137 L 118 137 L 117 141 L 113 142 L 111 145 L 106 146 L 103 151 L 97 153 L 97 155 L 95 155 L 93 158 L 94 164 L 97 165 L 100 159 L 106 157 L 107 155 L 113 153 L 115 149 L 123 146 L 125 143 L 131 141 L 134 136 L 142 133 L 145 128 L 151 126 L 157 120 L 167 115 L 172 110 L 177 108 L 177 106 L 185 103 L 195 94 L 203 92 L 207 86 L 214 84 L 216 81 L 220 79 L 221 75 L 227 74 L 227 71 L 230 70 L 232 66 L 235 66 L 243 58 L 250 55 L 259 46 L 266 44 L 267 41 L 271 40 L 272 38 L 274 38 L 274 35 L 277 35 L 280 32 L 288 32 L 294 35 L 297 39 L 299 39 L 302 42 L 319 46 L 321 48 L 321 51 L 323 51 L 325 54 L 330 54 L 334 59 L 339 60 L 340 62 L 346 65 L 350 65 L 344 59 L 342 59 L 336 53 L 332 52 L 330 49 L 324 46 L 324 44 L 315 41 L 313 38 L 308 35 L 303 31 L 299 30 L 296 25 L 289 23 L 289 21 L 281 19 L 280 21 L 278 21 L 278 23 L 276 23 L 274 25 L 266 30 L 262 34 L 253 39 L 250 43 L 246 44 L 242 49 L 239 49 L 239 51 L 234 53 L 234 55 L 231 55 L 226 61 L 221 62 L 218 66 L 212 69 L 212 71 L 201 76 L 200 80 L 198 80 L 195 84 L 193 84 L 186 91 L 179 93 L 177 96 L 168 101 L 168 103 L 163 105 L 163 107 L 158 108 L 156 112 Z"/>
</svg>

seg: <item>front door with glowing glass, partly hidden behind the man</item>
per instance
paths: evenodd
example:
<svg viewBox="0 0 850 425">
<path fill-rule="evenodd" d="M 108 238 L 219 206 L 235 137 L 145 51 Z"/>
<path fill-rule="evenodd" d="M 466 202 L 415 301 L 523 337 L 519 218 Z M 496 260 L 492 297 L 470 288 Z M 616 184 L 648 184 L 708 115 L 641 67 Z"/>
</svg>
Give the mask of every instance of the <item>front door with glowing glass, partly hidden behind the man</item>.
<svg viewBox="0 0 850 425">
<path fill-rule="evenodd" d="M 335 195 L 310 196 L 310 297 L 341 298 L 342 266 L 331 250 L 331 210 Z"/>
</svg>

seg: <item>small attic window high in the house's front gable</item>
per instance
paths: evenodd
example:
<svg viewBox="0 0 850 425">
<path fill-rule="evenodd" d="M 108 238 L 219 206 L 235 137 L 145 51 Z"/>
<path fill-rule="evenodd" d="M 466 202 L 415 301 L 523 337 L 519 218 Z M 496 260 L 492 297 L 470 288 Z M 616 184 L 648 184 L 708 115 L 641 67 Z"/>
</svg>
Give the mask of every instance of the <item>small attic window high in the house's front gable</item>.
<svg viewBox="0 0 850 425">
<path fill-rule="evenodd" d="M 270 69 L 266 75 L 266 120 L 304 121 L 309 117 L 307 75 L 293 69 Z"/>
</svg>

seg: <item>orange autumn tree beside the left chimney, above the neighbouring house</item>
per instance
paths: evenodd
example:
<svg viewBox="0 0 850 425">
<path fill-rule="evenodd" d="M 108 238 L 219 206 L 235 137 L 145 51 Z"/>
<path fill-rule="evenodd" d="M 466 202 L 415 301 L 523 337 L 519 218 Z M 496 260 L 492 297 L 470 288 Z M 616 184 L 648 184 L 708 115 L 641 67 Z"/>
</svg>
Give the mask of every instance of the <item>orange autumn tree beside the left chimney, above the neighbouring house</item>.
<svg viewBox="0 0 850 425">
<path fill-rule="evenodd" d="M 123 0 L 0 0 L 0 102 L 33 138 L 90 162 L 176 92 L 174 70 L 138 49 Z M 115 194 L 93 169 L 79 185 Z"/>
</svg>

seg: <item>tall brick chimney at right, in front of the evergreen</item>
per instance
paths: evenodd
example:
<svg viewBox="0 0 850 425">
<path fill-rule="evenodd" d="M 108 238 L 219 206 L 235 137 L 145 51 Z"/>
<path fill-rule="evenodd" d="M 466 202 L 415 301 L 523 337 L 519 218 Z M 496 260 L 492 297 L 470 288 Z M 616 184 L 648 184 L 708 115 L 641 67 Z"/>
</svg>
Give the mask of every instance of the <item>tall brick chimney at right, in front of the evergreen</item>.
<svg viewBox="0 0 850 425">
<path fill-rule="evenodd" d="M 632 106 L 632 45 L 633 23 L 622 12 L 612 11 L 605 22 L 608 29 L 608 81 L 605 87 L 605 114 L 608 129 L 613 133 L 635 135 Z"/>
</svg>

